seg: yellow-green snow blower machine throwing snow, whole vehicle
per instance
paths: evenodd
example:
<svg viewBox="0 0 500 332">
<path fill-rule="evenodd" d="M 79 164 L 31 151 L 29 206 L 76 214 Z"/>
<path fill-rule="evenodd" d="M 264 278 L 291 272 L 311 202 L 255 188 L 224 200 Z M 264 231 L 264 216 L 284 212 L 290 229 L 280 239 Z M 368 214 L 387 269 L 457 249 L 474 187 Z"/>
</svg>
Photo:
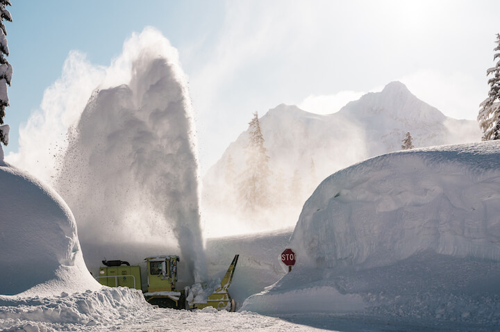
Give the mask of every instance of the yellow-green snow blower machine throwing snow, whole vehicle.
<svg viewBox="0 0 500 332">
<path fill-rule="evenodd" d="M 99 268 L 99 283 L 109 287 L 128 287 L 142 290 L 146 301 L 161 308 L 235 310 L 235 302 L 228 292 L 233 280 L 239 255 L 224 274 L 222 281 L 215 285 L 196 284 L 181 290 L 176 288 L 179 257 L 152 256 L 145 258 L 147 286 L 142 288 L 139 265 L 130 265 L 124 260 L 103 260 Z"/>
</svg>

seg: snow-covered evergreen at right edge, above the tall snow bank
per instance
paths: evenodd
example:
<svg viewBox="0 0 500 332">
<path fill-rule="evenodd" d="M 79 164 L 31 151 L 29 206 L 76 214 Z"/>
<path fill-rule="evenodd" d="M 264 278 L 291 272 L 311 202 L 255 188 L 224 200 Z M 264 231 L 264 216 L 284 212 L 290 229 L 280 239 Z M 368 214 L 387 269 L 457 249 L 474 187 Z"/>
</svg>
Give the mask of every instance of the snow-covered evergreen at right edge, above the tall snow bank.
<svg viewBox="0 0 500 332">
<path fill-rule="evenodd" d="M 493 60 L 500 58 L 500 33 L 497 33 L 497 47 Z M 495 67 L 487 69 L 486 76 L 492 75 L 488 80 L 490 92 L 488 97 L 479 106 L 478 122 L 483 130 L 483 140 L 500 139 L 500 60 Z"/>
</svg>

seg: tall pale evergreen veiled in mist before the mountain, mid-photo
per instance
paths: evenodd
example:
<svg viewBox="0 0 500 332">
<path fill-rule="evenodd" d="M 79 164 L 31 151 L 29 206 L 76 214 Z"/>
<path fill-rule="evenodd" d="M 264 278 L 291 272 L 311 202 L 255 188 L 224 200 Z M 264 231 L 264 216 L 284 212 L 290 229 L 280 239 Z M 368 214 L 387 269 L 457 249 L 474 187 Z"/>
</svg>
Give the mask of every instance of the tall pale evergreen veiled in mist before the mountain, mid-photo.
<svg viewBox="0 0 500 332">
<path fill-rule="evenodd" d="M 269 194 L 269 156 L 264 147 L 264 136 L 260 130 L 258 113 L 253 113 L 249 122 L 250 140 L 247 145 L 247 168 L 240 182 L 240 197 L 247 211 L 256 212 L 270 205 Z"/>
</svg>

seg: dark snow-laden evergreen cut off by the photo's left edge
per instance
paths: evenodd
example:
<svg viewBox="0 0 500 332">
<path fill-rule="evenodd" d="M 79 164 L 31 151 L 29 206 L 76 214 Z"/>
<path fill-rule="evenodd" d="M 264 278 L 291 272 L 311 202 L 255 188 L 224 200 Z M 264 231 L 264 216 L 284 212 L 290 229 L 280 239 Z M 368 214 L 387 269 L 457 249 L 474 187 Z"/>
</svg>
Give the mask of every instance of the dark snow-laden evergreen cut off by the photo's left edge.
<svg viewBox="0 0 500 332">
<path fill-rule="evenodd" d="M 3 124 L 3 117 L 5 117 L 5 108 L 9 106 L 8 95 L 7 95 L 7 85 L 10 85 L 10 79 L 12 78 L 12 66 L 8 63 L 5 56 L 8 56 L 8 46 L 7 46 L 7 30 L 3 24 L 3 19 L 12 22 L 12 17 L 6 6 L 10 5 L 10 0 L 0 0 L 0 124 Z M 8 144 L 8 132 L 9 126 L 0 126 L 0 142 L 3 144 Z"/>
</svg>

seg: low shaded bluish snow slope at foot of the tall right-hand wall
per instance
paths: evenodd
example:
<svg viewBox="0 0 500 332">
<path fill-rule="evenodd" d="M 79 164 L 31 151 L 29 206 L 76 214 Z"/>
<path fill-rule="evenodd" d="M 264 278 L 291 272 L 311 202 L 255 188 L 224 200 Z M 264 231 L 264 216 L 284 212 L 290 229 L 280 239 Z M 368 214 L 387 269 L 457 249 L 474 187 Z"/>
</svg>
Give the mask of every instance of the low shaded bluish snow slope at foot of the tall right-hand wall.
<svg viewBox="0 0 500 332">
<path fill-rule="evenodd" d="M 494 331 L 500 263 L 424 251 L 357 271 L 301 265 L 241 310 L 340 331 Z"/>
</svg>

